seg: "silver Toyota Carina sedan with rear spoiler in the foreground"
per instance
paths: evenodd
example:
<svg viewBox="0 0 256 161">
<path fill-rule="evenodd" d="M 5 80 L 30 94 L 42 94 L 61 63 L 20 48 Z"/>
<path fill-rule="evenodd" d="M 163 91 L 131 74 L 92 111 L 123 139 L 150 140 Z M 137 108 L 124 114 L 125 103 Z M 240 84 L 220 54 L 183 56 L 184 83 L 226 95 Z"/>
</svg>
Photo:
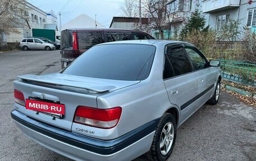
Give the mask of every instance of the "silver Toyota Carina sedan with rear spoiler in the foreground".
<svg viewBox="0 0 256 161">
<path fill-rule="evenodd" d="M 11 116 L 24 134 L 71 159 L 167 160 L 177 128 L 218 102 L 219 66 L 186 42 L 98 44 L 58 73 L 18 76 Z"/>
</svg>

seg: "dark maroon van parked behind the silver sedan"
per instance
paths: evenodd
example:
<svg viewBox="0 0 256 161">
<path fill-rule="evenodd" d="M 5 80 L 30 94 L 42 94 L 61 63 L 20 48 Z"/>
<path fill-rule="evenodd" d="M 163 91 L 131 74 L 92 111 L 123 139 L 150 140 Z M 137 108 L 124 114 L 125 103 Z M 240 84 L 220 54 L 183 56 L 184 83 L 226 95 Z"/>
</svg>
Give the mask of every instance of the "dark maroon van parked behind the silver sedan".
<svg viewBox="0 0 256 161">
<path fill-rule="evenodd" d="M 120 40 L 154 39 L 147 33 L 127 29 L 67 29 L 61 31 L 61 68 L 93 45 Z"/>
</svg>

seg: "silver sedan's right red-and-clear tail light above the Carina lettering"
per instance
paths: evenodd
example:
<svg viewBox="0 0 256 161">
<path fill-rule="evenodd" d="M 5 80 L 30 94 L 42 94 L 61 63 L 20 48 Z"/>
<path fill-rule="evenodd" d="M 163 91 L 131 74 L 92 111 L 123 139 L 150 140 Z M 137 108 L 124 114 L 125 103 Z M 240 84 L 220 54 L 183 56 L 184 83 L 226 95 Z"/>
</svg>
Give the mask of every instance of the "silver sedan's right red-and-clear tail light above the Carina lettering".
<svg viewBox="0 0 256 161">
<path fill-rule="evenodd" d="M 74 122 L 99 128 L 112 128 L 117 125 L 121 113 L 121 107 L 98 109 L 79 106 L 76 108 Z"/>
</svg>

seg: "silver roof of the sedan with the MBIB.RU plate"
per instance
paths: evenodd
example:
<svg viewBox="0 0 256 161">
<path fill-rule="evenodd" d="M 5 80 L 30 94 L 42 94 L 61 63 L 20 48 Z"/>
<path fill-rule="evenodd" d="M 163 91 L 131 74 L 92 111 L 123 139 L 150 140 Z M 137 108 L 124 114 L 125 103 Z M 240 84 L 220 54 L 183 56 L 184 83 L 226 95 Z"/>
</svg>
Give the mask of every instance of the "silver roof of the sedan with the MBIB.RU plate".
<svg viewBox="0 0 256 161">
<path fill-rule="evenodd" d="M 190 44 L 188 42 L 176 41 L 176 40 L 157 40 L 157 39 L 149 39 L 149 40 L 125 40 L 125 41 L 117 41 L 117 42 L 108 42 L 102 43 L 97 45 L 104 45 L 104 44 L 144 44 L 144 45 L 158 45 L 158 44 Z M 190 44 L 193 45 L 193 44 Z M 193 45 L 194 46 L 194 45 Z"/>
</svg>

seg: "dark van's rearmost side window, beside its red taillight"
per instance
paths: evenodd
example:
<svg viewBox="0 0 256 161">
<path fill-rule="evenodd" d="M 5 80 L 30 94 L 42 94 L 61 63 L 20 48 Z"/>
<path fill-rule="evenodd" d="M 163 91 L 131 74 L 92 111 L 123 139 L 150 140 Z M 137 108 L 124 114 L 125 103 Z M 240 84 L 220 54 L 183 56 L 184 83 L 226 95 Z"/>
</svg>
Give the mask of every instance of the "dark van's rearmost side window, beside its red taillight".
<svg viewBox="0 0 256 161">
<path fill-rule="evenodd" d="M 86 31 L 78 32 L 79 49 L 90 49 L 94 45 L 104 43 L 104 35 L 102 31 Z"/>
</svg>

